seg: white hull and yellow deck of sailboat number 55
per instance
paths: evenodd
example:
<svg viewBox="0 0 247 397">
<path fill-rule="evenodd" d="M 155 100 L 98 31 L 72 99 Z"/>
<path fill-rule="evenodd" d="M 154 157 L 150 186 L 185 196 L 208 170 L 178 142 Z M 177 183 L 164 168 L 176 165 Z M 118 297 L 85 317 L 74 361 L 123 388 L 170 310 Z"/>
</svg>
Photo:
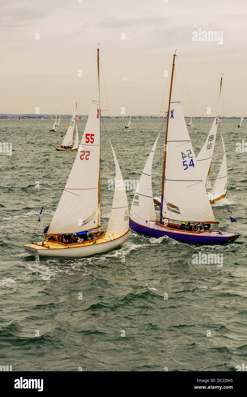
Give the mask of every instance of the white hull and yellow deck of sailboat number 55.
<svg viewBox="0 0 247 397">
<path fill-rule="evenodd" d="M 125 243 L 129 239 L 129 230 L 118 235 L 105 235 L 95 242 L 87 241 L 85 243 L 78 244 L 77 247 L 61 245 L 58 243 L 45 243 L 41 246 L 41 243 L 32 243 L 29 245 L 23 245 L 23 249 L 31 256 L 60 256 L 64 258 L 80 258 L 83 256 L 90 256 L 98 254 L 100 252 L 112 251 Z M 49 248 L 50 247 L 50 248 Z"/>
</svg>

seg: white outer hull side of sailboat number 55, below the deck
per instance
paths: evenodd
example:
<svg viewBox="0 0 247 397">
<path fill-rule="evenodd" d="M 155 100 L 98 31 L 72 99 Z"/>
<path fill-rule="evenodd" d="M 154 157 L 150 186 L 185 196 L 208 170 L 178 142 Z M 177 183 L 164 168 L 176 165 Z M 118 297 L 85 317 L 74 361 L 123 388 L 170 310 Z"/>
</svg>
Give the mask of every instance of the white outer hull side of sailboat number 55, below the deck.
<svg viewBox="0 0 247 397">
<path fill-rule="evenodd" d="M 100 252 L 112 251 L 125 243 L 129 239 L 129 231 L 122 237 L 105 243 L 92 244 L 82 247 L 69 247 L 62 249 L 37 249 L 33 245 L 23 245 L 25 252 L 31 256 L 62 256 L 64 258 L 79 258 L 83 256 L 95 255 Z M 35 244 L 37 247 L 37 245 Z"/>
</svg>

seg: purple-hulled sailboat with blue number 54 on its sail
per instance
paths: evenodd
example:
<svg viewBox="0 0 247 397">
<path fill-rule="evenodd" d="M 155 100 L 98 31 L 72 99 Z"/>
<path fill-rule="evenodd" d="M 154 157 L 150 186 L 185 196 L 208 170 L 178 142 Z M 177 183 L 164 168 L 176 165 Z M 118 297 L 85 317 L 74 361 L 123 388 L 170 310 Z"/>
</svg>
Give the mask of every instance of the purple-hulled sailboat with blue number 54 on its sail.
<svg viewBox="0 0 247 397">
<path fill-rule="evenodd" d="M 185 123 L 175 57 L 176 54 L 173 56 L 166 119 L 159 220 L 156 220 L 152 194 L 152 159 L 158 136 L 139 179 L 129 214 L 129 225 L 137 233 L 156 238 L 168 236 L 182 243 L 229 243 L 235 241 L 239 234 L 211 229 L 211 224 L 219 222 L 214 218 Z"/>
</svg>

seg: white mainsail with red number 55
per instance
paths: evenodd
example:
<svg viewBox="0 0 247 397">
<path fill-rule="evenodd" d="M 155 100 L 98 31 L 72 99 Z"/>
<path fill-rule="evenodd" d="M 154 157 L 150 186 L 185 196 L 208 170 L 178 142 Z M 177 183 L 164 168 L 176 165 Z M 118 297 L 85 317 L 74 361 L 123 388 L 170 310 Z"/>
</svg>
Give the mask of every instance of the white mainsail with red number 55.
<svg viewBox="0 0 247 397">
<path fill-rule="evenodd" d="M 48 234 L 76 233 L 98 226 L 99 162 L 100 113 L 97 72 L 96 91 L 85 131 Z"/>
</svg>

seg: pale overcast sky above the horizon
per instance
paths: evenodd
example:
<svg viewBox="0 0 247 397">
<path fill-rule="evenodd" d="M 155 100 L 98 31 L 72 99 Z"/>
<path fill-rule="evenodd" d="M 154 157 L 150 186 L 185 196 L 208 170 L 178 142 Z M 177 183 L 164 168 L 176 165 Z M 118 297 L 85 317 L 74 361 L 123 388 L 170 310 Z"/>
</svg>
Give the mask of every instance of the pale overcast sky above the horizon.
<svg viewBox="0 0 247 397">
<path fill-rule="evenodd" d="M 247 116 L 246 10 L 245 0 L 1 0 L 0 113 L 71 114 L 100 42 L 110 115 L 159 114 L 176 48 L 197 116 L 222 72 L 224 116 Z M 192 41 L 199 29 L 223 31 L 223 44 Z M 95 71 L 78 114 L 89 112 Z M 184 113 L 195 115 L 178 64 L 177 74 Z M 100 94 L 106 110 L 103 81 Z M 218 87 L 212 115 L 217 99 Z"/>
</svg>

